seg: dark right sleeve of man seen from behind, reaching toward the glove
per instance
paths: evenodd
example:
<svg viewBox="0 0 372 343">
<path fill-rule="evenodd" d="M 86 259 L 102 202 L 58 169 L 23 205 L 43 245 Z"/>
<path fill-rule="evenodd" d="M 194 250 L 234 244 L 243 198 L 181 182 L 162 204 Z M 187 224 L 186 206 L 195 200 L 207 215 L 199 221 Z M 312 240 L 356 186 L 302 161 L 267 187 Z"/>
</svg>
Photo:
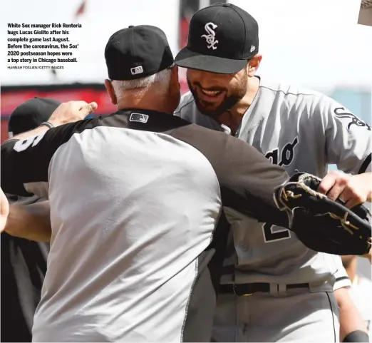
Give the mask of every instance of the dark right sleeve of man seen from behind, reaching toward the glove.
<svg viewBox="0 0 372 343">
<path fill-rule="evenodd" d="M 226 133 L 190 124 L 172 133 L 205 155 L 215 170 L 222 205 L 259 222 L 288 227 L 288 217 L 274 203 L 274 188 L 289 175 L 258 150 Z"/>
</svg>

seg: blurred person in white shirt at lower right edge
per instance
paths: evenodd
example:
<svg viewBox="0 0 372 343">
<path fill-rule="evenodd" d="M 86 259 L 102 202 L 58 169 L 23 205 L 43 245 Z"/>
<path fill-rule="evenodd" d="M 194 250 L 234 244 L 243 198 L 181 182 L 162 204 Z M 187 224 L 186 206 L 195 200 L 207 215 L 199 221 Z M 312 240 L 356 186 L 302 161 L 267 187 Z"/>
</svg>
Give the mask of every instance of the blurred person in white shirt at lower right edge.
<svg viewBox="0 0 372 343">
<path fill-rule="evenodd" d="M 371 256 L 371 255 L 368 255 Z M 348 277 L 351 280 L 351 299 L 361 312 L 366 327 L 368 329 L 370 341 L 372 333 L 372 308 L 371 308 L 371 294 L 372 281 L 363 275 L 358 275 L 357 265 L 358 259 L 356 256 L 341 256 L 343 267 L 345 267 Z"/>
</svg>

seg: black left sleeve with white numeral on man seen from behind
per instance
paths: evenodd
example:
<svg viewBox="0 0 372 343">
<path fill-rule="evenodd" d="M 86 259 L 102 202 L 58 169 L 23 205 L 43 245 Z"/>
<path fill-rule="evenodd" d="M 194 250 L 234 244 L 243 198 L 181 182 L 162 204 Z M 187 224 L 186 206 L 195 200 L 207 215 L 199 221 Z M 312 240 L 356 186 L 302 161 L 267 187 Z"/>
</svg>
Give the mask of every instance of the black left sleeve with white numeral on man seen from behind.
<svg viewBox="0 0 372 343">
<path fill-rule="evenodd" d="M 28 185 L 46 184 L 49 163 L 56 150 L 73 133 L 88 128 L 92 121 L 94 119 L 68 123 L 33 137 L 6 140 L 1 144 L 1 188 L 4 193 L 22 196 L 36 194 Z M 36 195 L 41 194 L 45 195 L 45 192 Z"/>
</svg>

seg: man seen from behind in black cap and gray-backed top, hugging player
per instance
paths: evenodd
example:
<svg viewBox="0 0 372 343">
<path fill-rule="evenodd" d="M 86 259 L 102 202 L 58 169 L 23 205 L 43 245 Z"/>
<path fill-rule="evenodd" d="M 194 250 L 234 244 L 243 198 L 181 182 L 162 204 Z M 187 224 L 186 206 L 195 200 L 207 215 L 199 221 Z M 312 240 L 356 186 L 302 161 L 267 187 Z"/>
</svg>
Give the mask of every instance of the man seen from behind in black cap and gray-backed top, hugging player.
<svg viewBox="0 0 372 343">
<path fill-rule="evenodd" d="M 4 192 L 51 209 L 33 341 L 207 342 L 222 205 L 288 225 L 272 195 L 289 175 L 242 140 L 172 116 L 180 84 L 160 29 L 116 32 L 105 59 L 117 112 L 48 121 L 1 145 Z"/>
</svg>

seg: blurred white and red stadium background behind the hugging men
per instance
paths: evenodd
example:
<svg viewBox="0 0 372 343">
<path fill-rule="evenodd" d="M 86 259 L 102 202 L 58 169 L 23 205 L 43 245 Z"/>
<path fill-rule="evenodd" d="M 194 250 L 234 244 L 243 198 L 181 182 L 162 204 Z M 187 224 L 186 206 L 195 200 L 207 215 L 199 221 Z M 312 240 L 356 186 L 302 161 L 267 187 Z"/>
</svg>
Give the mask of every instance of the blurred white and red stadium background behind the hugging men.
<svg viewBox="0 0 372 343">
<path fill-rule="evenodd" d="M 68 29 L 73 43 L 79 43 L 78 63 L 64 63 L 55 73 L 8 69 L 6 53 L 1 54 L 1 141 L 8 138 L 11 112 L 34 96 L 95 101 L 96 114 L 115 111 L 103 86 L 103 51 L 110 35 L 129 25 L 159 26 L 176 54 L 187 43 L 192 14 L 215 2 L 236 4 L 257 19 L 260 76 L 326 93 L 372 124 L 372 28 L 357 24 L 361 0 L 14 0 L 0 12 L 3 47 L 8 44 L 8 23 L 83 27 Z M 180 78 L 185 92 L 182 68 Z M 359 267 L 371 277 L 368 261 L 361 260 Z"/>
</svg>

